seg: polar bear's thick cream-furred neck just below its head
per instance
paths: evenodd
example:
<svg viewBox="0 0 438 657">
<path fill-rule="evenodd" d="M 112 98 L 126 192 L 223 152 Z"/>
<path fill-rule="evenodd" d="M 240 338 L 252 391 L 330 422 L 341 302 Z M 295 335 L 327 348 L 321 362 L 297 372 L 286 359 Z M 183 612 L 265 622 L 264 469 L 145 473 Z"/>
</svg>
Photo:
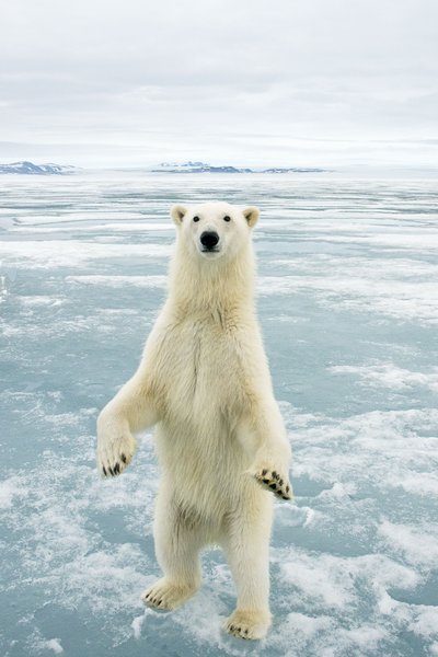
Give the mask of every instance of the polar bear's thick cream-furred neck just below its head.
<svg viewBox="0 0 438 657">
<path fill-rule="evenodd" d="M 232 261 L 189 257 L 180 245 L 170 269 L 169 302 L 182 316 L 194 312 L 253 310 L 254 254 L 251 244 Z"/>
</svg>

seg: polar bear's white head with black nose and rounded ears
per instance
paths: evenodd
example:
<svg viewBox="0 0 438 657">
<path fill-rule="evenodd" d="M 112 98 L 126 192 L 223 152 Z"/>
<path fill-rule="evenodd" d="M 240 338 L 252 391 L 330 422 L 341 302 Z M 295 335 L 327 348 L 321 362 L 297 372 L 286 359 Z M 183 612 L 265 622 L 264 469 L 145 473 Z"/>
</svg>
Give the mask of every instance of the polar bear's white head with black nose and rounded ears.
<svg viewBox="0 0 438 657">
<path fill-rule="evenodd" d="M 178 229 L 178 242 L 196 258 L 233 258 L 247 247 L 258 208 L 229 203 L 174 205 L 171 217 Z"/>
</svg>

